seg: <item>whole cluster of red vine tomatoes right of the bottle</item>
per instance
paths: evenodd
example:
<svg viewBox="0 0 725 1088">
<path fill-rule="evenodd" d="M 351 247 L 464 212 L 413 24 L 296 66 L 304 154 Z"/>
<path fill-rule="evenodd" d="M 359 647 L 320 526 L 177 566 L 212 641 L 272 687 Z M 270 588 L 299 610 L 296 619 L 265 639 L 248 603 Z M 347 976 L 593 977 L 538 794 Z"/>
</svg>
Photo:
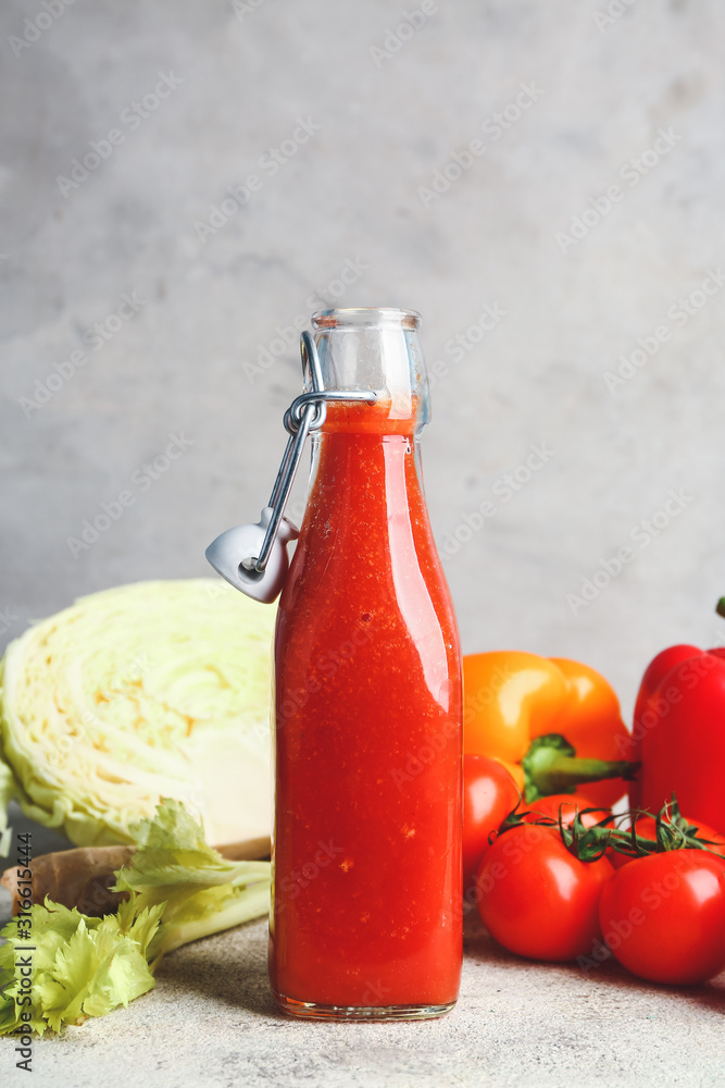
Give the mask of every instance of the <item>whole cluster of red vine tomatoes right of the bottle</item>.
<svg viewBox="0 0 725 1088">
<path fill-rule="evenodd" d="M 672 985 L 725 968 L 725 837 L 676 806 L 624 831 L 578 794 L 522 806 L 500 764 L 465 756 L 463 840 L 464 898 L 518 955 L 588 968 L 611 952 Z"/>
</svg>

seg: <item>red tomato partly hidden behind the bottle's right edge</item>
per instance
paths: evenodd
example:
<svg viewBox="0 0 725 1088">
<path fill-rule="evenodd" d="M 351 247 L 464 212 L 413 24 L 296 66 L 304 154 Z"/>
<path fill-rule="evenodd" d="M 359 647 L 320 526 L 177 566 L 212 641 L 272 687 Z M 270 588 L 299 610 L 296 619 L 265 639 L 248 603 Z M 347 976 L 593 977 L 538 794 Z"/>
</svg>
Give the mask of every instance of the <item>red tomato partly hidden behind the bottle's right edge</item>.
<svg viewBox="0 0 725 1088">
<path fill-rule="evenodd" d="M 498 759 L 463 756 L 463 890 L 470 887 L 488 837 L 518 803 L 518 789 Z"/>
</svg>

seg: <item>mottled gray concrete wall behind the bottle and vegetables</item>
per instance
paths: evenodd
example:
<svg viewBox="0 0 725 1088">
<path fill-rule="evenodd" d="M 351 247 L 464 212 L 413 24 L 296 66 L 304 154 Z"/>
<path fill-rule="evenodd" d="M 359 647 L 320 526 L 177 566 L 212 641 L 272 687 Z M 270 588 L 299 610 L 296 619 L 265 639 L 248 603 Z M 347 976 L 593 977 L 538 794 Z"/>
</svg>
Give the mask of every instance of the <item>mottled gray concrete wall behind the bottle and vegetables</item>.
<svg viewBox="0 0 725 1088">
<path fill-rule="evenodd" d="M 277 326 L 326 297 L 424 316 L 437 537 L 496 511 L 446 559 L 467 651 L 580 657 L 630 706 L 654 652 L 712 642 L 717 0 L 49 2 L 0 14 L 4 641 L 79 594 L 207 572 L 284 443 Z M 243 207 L 200 230 L 230 187 Z"/>
</svg>

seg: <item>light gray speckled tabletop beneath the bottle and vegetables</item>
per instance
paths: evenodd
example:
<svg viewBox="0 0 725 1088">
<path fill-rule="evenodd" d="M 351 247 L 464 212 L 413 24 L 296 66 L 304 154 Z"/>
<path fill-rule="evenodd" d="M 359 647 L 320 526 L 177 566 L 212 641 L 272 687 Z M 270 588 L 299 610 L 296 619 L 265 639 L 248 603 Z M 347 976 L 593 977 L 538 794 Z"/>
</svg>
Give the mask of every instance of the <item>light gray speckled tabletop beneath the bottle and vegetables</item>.
<svg viewBox="0 0 725 1088">
<path fill-rule="evenodd" d="M 16 829 L 34 827 L 12 813 Z M 38 850 L 60 836 L 34 827 Z M 0 910 L 2 908 L 0 903 Z M 500 949 L 466 919 L 461 997 L 440 1021 L 323 1024 L 275 1009 L 266 920 L 172 953 L 151 993 L 34 1044 L 33 1078 L 0 1040 L 2 1088 L 720 1088 L 725 973 L 650 986 Z"/>
</svg>

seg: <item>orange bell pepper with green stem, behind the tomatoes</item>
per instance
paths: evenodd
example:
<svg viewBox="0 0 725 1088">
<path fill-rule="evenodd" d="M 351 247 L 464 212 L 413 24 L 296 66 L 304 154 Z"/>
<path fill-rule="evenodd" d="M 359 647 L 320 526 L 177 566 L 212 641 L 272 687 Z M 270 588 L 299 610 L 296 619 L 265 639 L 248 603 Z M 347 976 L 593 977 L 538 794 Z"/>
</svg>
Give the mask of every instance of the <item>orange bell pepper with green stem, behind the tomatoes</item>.
<svg viewBox="0 0 725 1088">
<path fill-rule="evenodd" d="M 629 739 L 618 700 L 578 662 L 518 651 L 463 658 L 463 751 L 498 759 L 528 803 L 587 783 L 610 807 L 638 764 L 616 757 Z"/>
</svg>

